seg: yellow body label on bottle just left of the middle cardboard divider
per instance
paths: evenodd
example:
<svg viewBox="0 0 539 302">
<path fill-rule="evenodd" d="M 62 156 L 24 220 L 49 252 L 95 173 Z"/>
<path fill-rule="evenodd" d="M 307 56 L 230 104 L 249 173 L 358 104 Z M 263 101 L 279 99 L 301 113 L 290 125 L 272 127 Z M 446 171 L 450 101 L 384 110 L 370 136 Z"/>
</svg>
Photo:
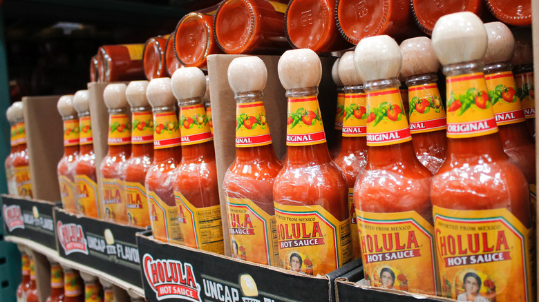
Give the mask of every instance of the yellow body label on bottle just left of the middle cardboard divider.
<svg viewBox="0 0 539 302">
<path fill-rule="evenodd" d="M 97 198 L 97 183 L 86 175 L 75 175 L 75 188 L 77 196 L 75 197 L 75 205 L 77 205 L 77 213 L 88 217 L 100 218 L 100 203 Z"/>
</svg>

